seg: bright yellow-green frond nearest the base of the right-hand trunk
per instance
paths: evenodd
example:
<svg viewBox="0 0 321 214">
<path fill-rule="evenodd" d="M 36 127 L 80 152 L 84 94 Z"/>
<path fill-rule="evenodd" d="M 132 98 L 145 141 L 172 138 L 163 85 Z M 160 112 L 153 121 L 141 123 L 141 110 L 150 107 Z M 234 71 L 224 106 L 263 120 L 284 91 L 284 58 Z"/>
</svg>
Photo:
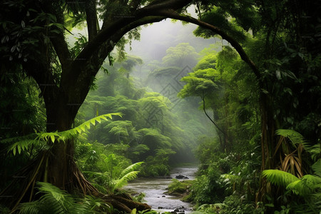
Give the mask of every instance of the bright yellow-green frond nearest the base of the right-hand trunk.
<svg viewBox="0 0 321 214">
<path fill-rule="evenodd" d="M 263 170 L 262 175 L 270 181 L 270 183 L 283 185 L 285 187 L 292 182 L 300 180 L 295 175 L 281 170 Z"/>
</svg>

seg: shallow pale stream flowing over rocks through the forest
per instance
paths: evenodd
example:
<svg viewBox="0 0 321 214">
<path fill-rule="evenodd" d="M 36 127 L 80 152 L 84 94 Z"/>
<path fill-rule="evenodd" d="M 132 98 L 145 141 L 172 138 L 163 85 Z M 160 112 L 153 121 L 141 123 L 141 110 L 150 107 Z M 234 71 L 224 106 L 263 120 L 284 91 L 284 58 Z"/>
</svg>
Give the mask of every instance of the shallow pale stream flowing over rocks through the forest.
<svg viewBox="0 0 321 214">
<path fill-rule="evenodd" d="M 185 203 L 180 198 L 165 194 L 166 188 L 170 184 L 172 178 L 176 175 L 184 175 L 189 179 L 195 179 L 195 173 L 198 170 L 197 166 L 187 166 L 173 168 L 170 172 L 170 178 L 139 178 L 133 180 L 126 186 L 126 189 L 134 190 L 138 193 L 145 193 L 145 202 L 152 207 L 153 210 L 159 213 L 171 212 L 176 208 L 181 212 L 190 213 L 193 205 Z M 184 179 L 178 179 L 184 180 Z"/>
</svg>

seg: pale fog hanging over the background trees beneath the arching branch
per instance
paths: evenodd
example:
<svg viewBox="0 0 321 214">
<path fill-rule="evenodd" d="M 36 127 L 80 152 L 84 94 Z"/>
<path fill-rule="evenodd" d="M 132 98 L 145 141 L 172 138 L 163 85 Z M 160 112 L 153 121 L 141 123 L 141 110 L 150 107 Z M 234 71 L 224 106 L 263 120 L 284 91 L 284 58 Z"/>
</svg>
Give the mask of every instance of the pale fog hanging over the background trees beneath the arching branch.
<svg viewBox="0 0 321 214">
<path fill-rule="evenodd" d="M 195 25 L 166 19 L 142 26 L 139 31 L 140 41 L 132 39 L 128 42 L 124 49 L 126 53 L 119 52 L 119 46 L 115 47 L 113 66 L 109 65 L 108 60 L 105 61 L 103 70 L 106 72 L 102 70 L 96 76 L 96 89 L 90 91 L 81 110 L 86 119 L 101 113 L 119 111 L 124 114 L 121 118 L 123 124 L 118 124 L 120 130 L 113 136 L 112 128 L 107 128 L 108 137 L 101 137 L 92 130 L 88 135 L 91 140 L 103 144 L 127 143 L 130 147 L 137 147 L 146 141 L 144 138 L 149 135 L 146 133 L 148 128 L 162 136 L 151 140 L 155 142 L 149 142 L 148 150 L 157 150 L 160 145 L 167 145 L 165 148 L 169 153 L 165 156 L 170 155 L 170 163 L 196 161 L 193 151 L 200 138 L 214 136 L 215 129 L 200 108 L 199 97 L 178 97 L 185 85 L 180 79 L 193 72 L 193 67 L 201 58 L 200 51 L 213 46 L 217 41 L 216 49 L 219 50 L 221 43 L 217 38 L 195 37 L 195 29 Z M 119 62 L 120 53 L 124 58 Z M 103 101 L 102 97 L 107 100 Z M 106 106 L 111 98 L 118 101 L 117 107 Z M 91 111 L 88 111 L 88 107 Z M 209 114 L 213 116 L 213 113 Z M 129 130 L 133 133 L 127 134 Z M 126 135 L 123 135 L 124 131 Z M 170 143 L 164 144 L 163 138 Z M 153 145 L 158 141 L 161 144 Z M 155 156 L 155 151 L 151 150 L 145 155 L 138 155 L 134 160 L 144 161 L 150 155 Z"/>
</svg>

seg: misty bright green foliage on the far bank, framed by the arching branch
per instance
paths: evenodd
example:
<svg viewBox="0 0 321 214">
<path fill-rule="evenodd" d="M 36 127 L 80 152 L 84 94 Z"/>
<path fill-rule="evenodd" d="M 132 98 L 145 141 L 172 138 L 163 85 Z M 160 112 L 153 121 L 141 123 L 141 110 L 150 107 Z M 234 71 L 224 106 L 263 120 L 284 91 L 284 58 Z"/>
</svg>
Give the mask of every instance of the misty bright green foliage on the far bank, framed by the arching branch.
<svg viewBox="0 0 321 214">
<path fill-rule="evenodd" d="M 188 44 L 179 44 L 178 50 L 175 51 L 185 53 L 179 51 L 182 47 L 193 49 Z M 192 54 L 176 58 L 172 56 L 173 54 L 173 51 L 168 51 L 166 56 L 177 64 L 182 60 L 190 62 L 193 54 L 196 61 L 195 57 L 198 55 L 195 50 Z M 133 61 L 132 58 L 136 58 L 136 61 Z M 88 133 L 87 140 L 89 142 L 98 141 L 108 148 L 110 146 L 115 149 L 118 147 L 121 150 L 119 155 L 129 158 L 131 161 L 144 161 L 146 164 L 141 170 L 143 176 L 168 175 L 170 163 L 194 161 L 191 151 L 195 148 L 198 136 L 204 134 L 206 130 L 202 124 L 203 119 L 187 111 L 189 108 L 196 115 L 200 115 L 197 109 L 193 109 L 195 106 L 193 99 L 177 103 L 177 98 L 168 97 L 166 91 L 162 91 L 165 88 L 165 83 L 175 78 L 183 69 L 182 67 L 173 68 L 168 65 L 166 60 L 163 61 L 159 65 L 164 67 L 158 68 L 157 71 L 141 71 L 150 73 L 147 79 L 137 79 L 129 75 L 143 63 L 141 60 L 138 61 L 137 57 L 128 56 L 122 62 L 116 61 L 112 67 L 105 64 L 104 68 L 108 70 L 108 73 L 98 73 L 95 83 L 97 89 L 88 94 L 88 98 L 77 117 L 81 121 L 101 113 L 122 113 L 120 120 L 109 121 L 92 128 Z M 128 68 L 123 66 L 128 63 L 132 63 L 132 65 L 127 66 Z M 148 66 L 143 69 L 149 68 Z M 166 69 L 168 71 L 164 72 Z M 157 84 L 153 82 L 155 76 L 158 76 Z M 143 88 L 143 85 L 140 85 L 144 82 L 147 86 L 152 86 L 153 90 L 161 91 L 161 93 L 148 92 L 151 89 Z M 176 84 L 178 85 L 178 83 Z M 175 95 L 175 91 L 170 93 Z M 183 113 L 180 112 L 182 108 L 185 108 Z M 183 115 L 184 118 L 182 118 Z"/>
</svg>

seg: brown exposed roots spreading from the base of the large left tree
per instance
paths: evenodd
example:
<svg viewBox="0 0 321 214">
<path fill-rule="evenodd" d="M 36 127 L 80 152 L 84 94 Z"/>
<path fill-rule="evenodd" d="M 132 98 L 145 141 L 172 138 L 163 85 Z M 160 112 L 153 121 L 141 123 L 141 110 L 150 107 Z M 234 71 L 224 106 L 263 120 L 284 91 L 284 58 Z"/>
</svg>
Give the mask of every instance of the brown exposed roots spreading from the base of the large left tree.
<svg viewBox="0 0 321 214">
<path fill-rule="evenodd" d="M 44 151 L 39 155 L 35 161 L 31 162 L 24 168 L 21 168 L 15 175 L 12 176 L 11 183 L 0 193 L 1 203 L 11 208 L 14 213 L 20 203 L 37 200 L 39 197 L 35 195 L 35 185 L 37 181 L 49 182 L 55 185 L 54 179 L 50 178 L 50 171 L 48 171 L 49 151 Z M 103 199 L 113 208 L 123 213 L 131 213 L 131 210 L 151 210 L 151 207 L 146 203 L 138 203 L 133 201 L 130 197 L 119 195 L 105 195 L 100 193 L 78 169 L 73 160 L 68 160 L 68 174 L 64 178 L 63 190 L 68 193 L 78 195 L 93 195 L 96 198 Z M 23 181 L 21 181 L 23 179 Z"/>
</svg>

